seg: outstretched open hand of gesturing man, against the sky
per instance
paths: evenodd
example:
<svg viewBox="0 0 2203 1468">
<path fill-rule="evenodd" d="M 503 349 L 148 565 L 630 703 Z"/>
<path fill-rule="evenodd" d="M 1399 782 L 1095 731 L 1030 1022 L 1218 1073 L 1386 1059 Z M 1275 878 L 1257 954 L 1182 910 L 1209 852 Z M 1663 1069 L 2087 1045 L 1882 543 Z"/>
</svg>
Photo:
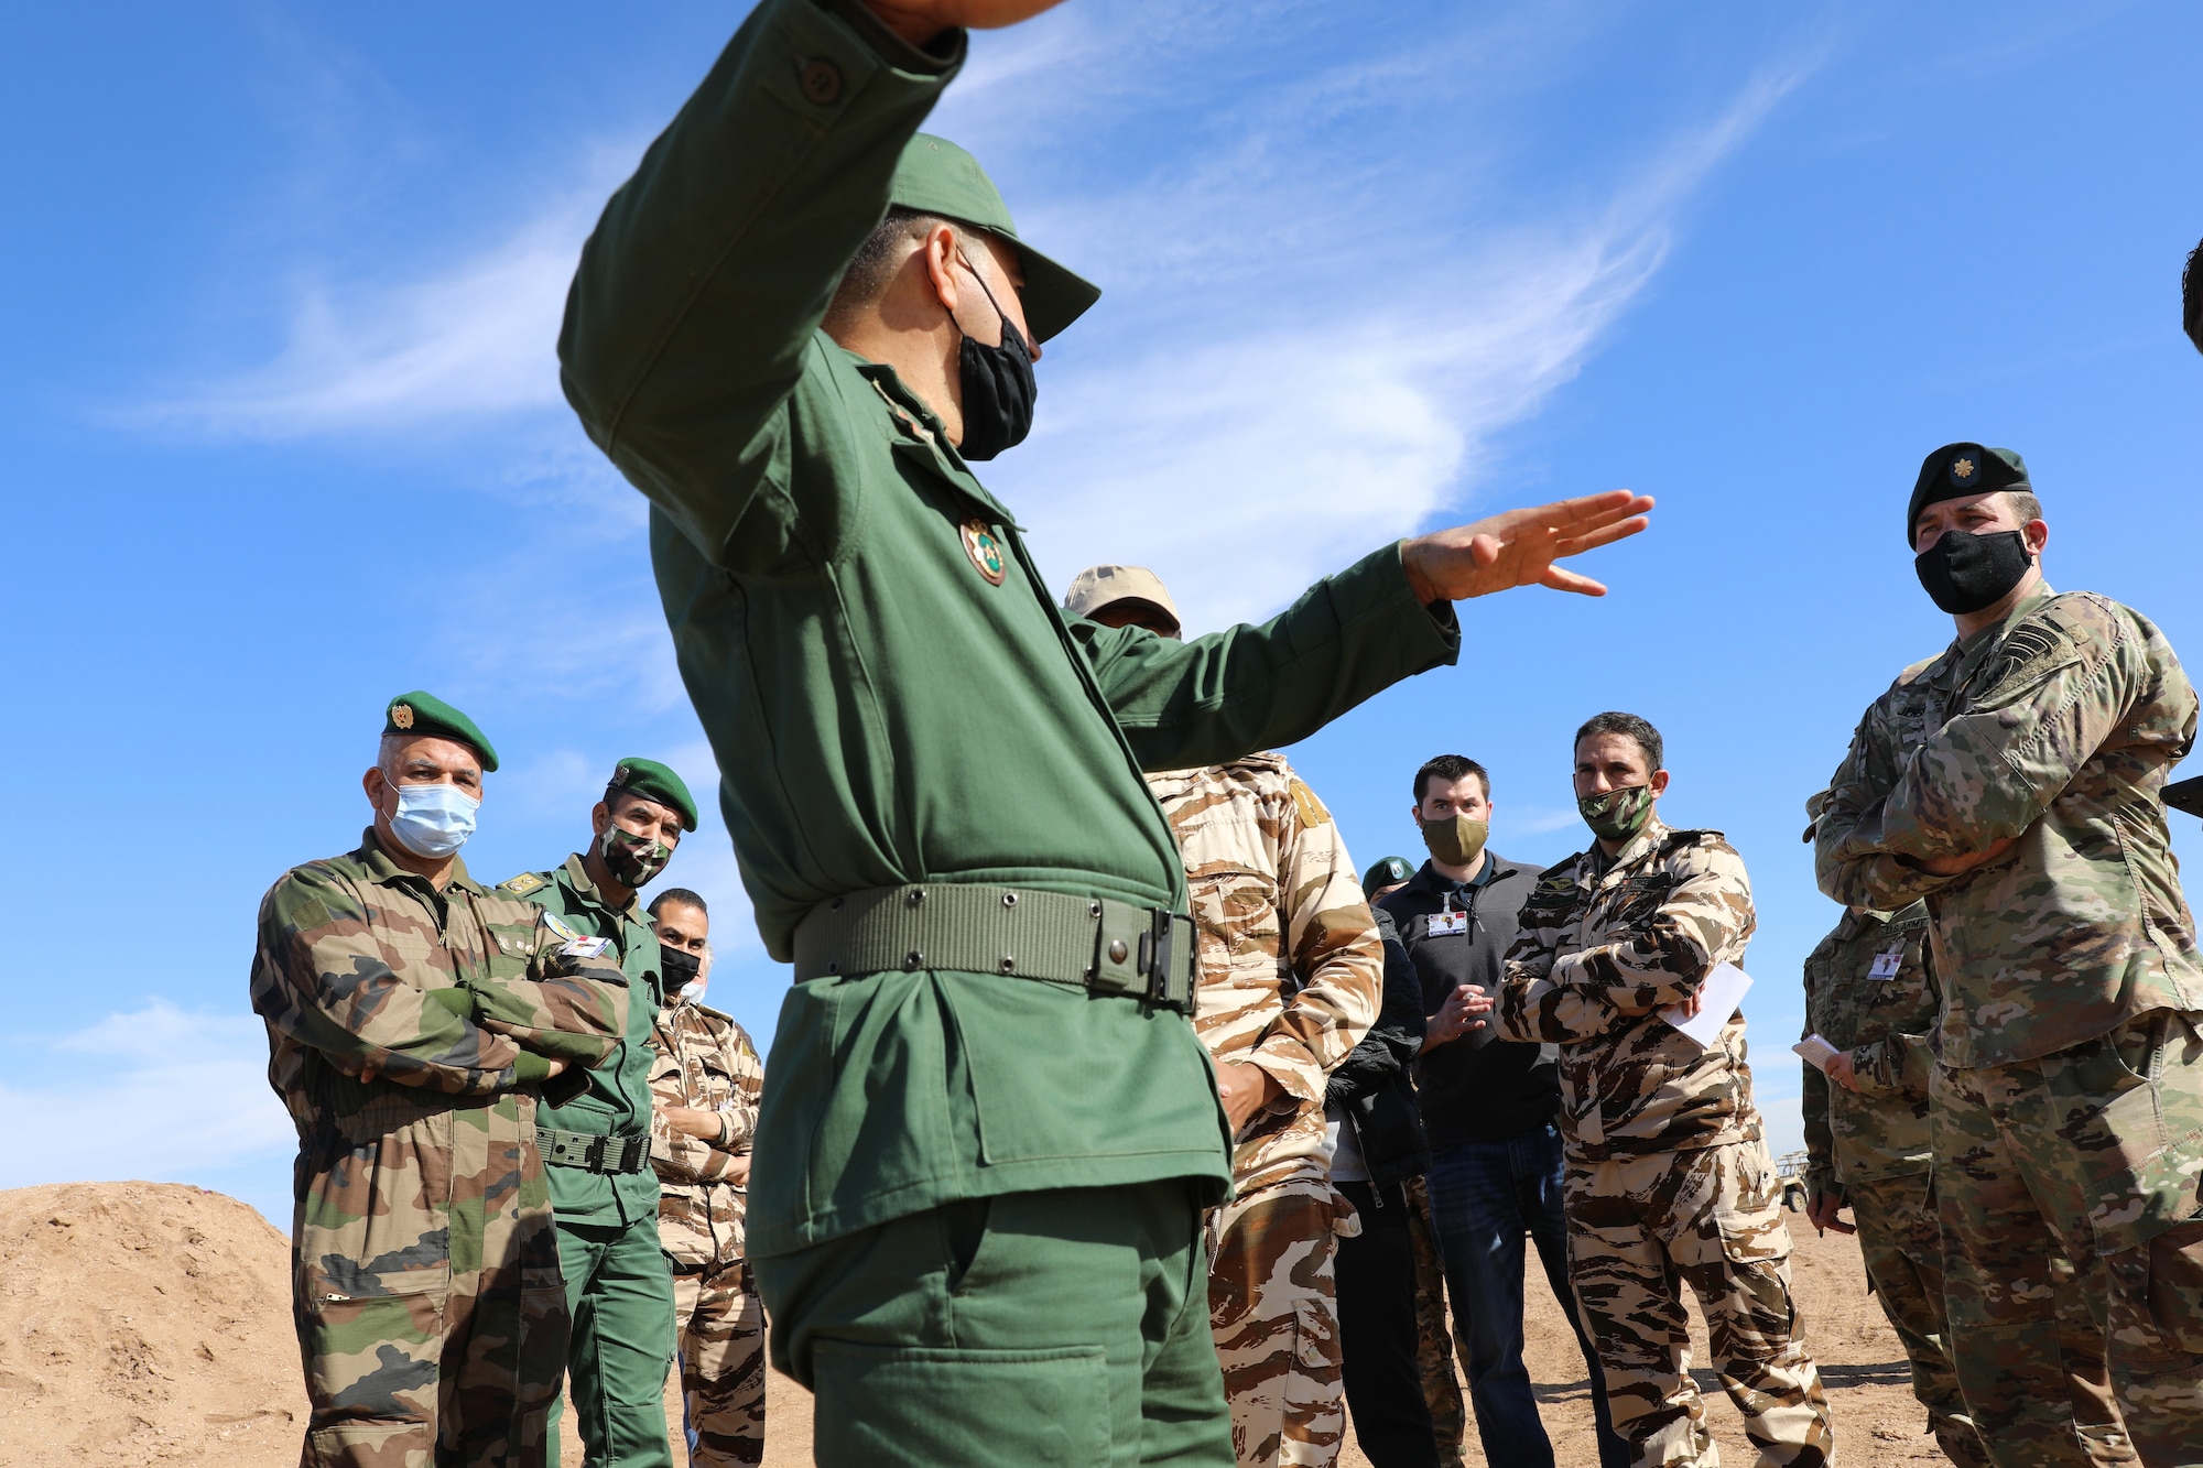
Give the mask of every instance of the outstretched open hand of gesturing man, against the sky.
<svg viewBox="0 0 2203 1468">
<path fill-rule="evenodd" d="M 1408 584 L 1423 602 L 1487 597 L 1513 586 L 1551 586 L 1604 597 L 1606 586 L 1553 562 L 1641 531 L 1652 498 L 1628 489 L 1509 509 L 1474 525 L 1417 536 L 1401 547 Z"/>
</svg>

